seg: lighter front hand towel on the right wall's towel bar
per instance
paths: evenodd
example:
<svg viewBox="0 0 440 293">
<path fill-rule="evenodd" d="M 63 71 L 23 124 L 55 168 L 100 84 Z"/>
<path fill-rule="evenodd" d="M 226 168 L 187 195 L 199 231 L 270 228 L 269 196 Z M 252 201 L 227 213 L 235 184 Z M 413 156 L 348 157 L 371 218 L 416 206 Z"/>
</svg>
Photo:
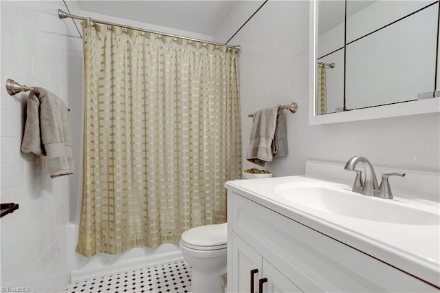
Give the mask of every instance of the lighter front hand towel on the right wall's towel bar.
<svg viewBox="0 0 440 293">
<path fill-rule="evenodd" d="M 254 113 L 252 130 L 250 131 L 246 159 L 254 164 L 264 166 L 272 162 L 272 141 L 276 130 L 278 106 L 262 109 Z"/>
</svg>

